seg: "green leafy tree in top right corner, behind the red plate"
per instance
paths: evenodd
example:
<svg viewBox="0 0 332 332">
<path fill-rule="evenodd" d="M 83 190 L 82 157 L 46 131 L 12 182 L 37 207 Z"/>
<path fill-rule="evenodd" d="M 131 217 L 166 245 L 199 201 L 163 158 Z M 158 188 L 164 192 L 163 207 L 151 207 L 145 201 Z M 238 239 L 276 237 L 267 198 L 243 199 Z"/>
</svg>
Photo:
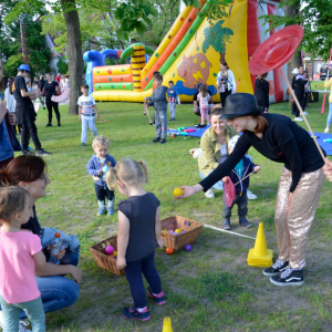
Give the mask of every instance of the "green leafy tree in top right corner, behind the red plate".
<svg viewBox="0 0 332 332">
<path fill-rule="evenodd" d="M 301 49 L 305 49 L 314 59 L 330 56 L 332 45 L 332 1 L 331 0 L 283 0 L 280 7 L 284 9 L 284 17 L 262 15 L 270 29 L 278 25 L 300 24 L 304 35 L 298 52 L 291 59 L 292 66 L 302 64 Z"/>
</svg>

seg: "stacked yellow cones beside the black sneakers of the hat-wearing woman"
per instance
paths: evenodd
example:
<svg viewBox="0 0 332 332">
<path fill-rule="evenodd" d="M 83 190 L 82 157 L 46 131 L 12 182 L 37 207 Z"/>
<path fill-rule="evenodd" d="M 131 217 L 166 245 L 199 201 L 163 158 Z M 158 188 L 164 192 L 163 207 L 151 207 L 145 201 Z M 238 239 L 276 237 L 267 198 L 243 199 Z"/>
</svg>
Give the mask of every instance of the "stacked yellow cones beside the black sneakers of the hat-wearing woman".
<svg viewBox="0 0 332 332">
<path fill-rule="evenodd" d="M 270 267 L 272 264 L 273 251 L 267 248 L 263 224 L 259 222 L 255 247 L 249 250 L 248 266 Z"/>
</svg>

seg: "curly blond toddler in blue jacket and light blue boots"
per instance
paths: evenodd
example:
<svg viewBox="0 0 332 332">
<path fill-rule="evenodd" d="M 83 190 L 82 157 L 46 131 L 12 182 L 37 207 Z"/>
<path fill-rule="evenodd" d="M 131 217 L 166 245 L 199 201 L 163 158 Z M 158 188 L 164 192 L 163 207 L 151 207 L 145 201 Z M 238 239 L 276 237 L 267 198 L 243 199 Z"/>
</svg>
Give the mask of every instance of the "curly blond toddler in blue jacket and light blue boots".
<svg viewBox="0 0 332 332">
<path fill-rule="evenodd" d="M 107 198 L 107 215 L 114 215 L 114 190 L 108 189 L 105 174 L 110 167 L 115 167 L 114 157 L 108 155 L 110 141 L 105 136 L 97 136 L 92 142 L 95 156 L 92 156 L 86 165 L 86 170 L 94 180 L 94 189 L 98 201 L 97 216 L 106 211 L 105 198 Z"/>
</svg>

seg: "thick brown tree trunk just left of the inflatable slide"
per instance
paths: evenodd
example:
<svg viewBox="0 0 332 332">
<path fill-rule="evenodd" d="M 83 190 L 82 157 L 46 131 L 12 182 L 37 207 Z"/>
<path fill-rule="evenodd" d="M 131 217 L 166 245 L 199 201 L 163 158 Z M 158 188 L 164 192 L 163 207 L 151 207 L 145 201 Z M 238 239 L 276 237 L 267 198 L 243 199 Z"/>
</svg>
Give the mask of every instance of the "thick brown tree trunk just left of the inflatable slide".
<svg viewBox="0 0 332 332">
<path fill-rule="evenodd" d="M 69 114 L 79 114 L 77 100 L 83 83 L 83 54 L 81 43 L 80 19 L 75 0 L 61 0 L 68 32 L 68 62 L 70 76 Z"/>
</svg>

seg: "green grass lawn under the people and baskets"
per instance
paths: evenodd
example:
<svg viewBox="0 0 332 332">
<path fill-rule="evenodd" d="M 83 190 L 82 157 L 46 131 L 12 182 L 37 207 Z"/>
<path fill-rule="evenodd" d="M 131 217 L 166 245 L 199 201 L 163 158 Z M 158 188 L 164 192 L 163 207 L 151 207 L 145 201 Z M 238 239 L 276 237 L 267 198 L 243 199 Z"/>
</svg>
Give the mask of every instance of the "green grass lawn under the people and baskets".
<svg viewBox="0 0 332 332">
<path fill-rule="evenodd" d="M 313 131 L 325 128 L 328 105 L 322 116 L 321 101 L 309 104 L 307 111 Z M 97 103 L 102 117 L 111 123 L 97 124 L 98 134 L 111 141 L 110 154 L 145 159 L 151 170 L 146 189 L 160 200 L 162 218 L 173 215 L 222 226 L 222 193 L 215 199 L 204 193 L 185 200 L 176 200 L 173 189 L 195 185 L 200 178 L 197 159 L 189 149 L 199 146 L 199 138 L 168 138 L 167 144 L 152 144 L 155 127 L 148 125 L 142 104 Z M 170 127 L 189 126 L 199 122 L 189 104 L 177 107 Z M 131 322 L 121 315 L 124 307 L 132 305 L 125 277 L 114 276 L 96 266 L 89 247 L 117 232 L 117 216 L 96 217 L 97 203 L 91 176 L 85 166 L 93 149 L 89 133 L 87 146 L 80 146 L 81 125 L 77 116 L 61 106 L 62 126 L 45 127 L 46 111 L 39 111 L 37 125 L 52 183 L 48 196 L 37 204 L 43 227 L 56 227 L 68 234 L 77 234 L 82 245 L 79 267 L 83 270 L 80 300 L 69 309 L 46 314 L 48 331 L 160 331 L 163 320 L 170 317 L 174 332 L 194 331 L 332 331 L 331 281 L 331 196 L 332 185 L 325 181 L 317 218 L 312 226 L 308 250 L 305 283 L 299 288 L 278 288 L 262 274 L 261 268 L 247 264 L 249 248 L 255 240 L 204 228 L 191 252 L 183 250 L 167 256 L 156 251 L 156 266 L 162 277 L 167 303 L 158 308 L 147 300 L 152 319 Z M 271 105 L 271 113 L 290 115 L 288 103 Z M 55 121 L 53 120 L 53 125 Z M 304 122 L 300 125 L 305 126 Z M 249 154 L 256 164 L 267 159 L 255 149 Z M 264 224 L 268 248 L 278 246 L 274 229 L 274 204 L 282 165 L 270 163 L 251 177 L 250 189 L 258 195 L 249 200 L 249 230 L 238 226 L 237 208 L 231 219 L 232 230 L 256 237 L 258 224 Z M 116 204 L 124 199 L 117 191 Z M 329 277 L 330 276 L 330 277 Z"/>
</svg>

